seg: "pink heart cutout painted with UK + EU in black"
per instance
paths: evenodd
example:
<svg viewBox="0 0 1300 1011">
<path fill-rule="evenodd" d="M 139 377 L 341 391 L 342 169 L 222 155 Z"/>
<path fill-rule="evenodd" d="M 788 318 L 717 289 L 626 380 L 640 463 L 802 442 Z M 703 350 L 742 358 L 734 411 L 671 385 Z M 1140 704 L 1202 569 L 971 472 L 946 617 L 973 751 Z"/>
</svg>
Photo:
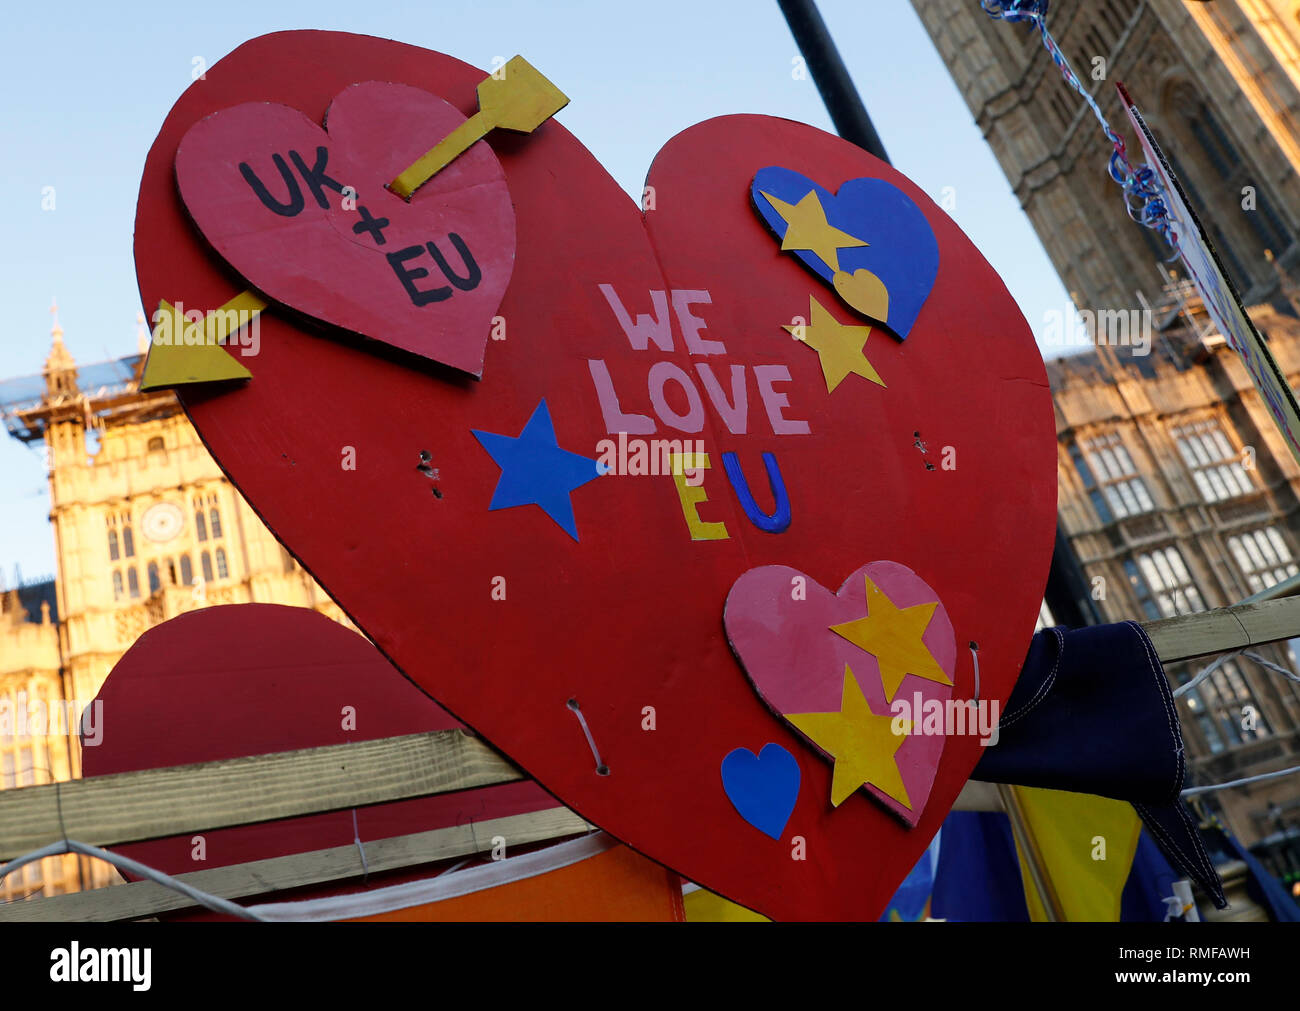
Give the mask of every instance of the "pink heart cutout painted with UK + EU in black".
<svg viewBox="0 0 1300 1011">
<path fill-rule="evenodd" d="M 500 162 L 478 142 L 410 203 L 385 188 L 464 120 L 436 95 L 376 81 L 334 97 L 328 133 L 287 105 L 246 103 L 190 127 L 177 186 L 204 238 L 268 298 L 482 376 L 515 264 Z"/>
</svg>

